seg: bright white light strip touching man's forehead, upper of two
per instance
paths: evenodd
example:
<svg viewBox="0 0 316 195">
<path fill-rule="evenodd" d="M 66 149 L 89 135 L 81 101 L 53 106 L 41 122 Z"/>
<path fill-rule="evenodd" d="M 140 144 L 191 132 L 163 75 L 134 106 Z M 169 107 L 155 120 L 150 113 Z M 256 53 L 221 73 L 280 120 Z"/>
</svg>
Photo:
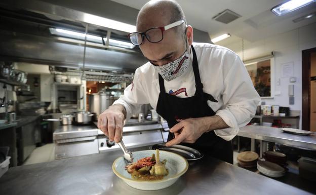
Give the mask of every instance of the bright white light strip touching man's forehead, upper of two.
<svg viewBox="0 0 316 195">
<path fill-rule="evenodd" d="M 121 30 L 124 32 L 135 32 L 136 26 L 127 24 L 124 22 L 119 22 L 107 18 L 103 18 L 100 16 L 95 16 L 92 14 L 85 14 L 84 15 L 84 21 L 87 23 L 95 24 L 98 26 L 104 26 L 107 28 L 115 29 L 115 30 Z"/>
</svg>

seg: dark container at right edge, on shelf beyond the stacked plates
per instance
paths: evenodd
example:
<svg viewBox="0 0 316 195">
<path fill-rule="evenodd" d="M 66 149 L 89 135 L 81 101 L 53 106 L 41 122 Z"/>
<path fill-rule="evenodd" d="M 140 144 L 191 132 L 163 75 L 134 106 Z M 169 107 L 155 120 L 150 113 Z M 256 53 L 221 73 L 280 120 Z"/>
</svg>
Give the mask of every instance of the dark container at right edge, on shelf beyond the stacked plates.
<svg viewBox="0 0 316 195">
<path fill-rule="evenodd" d="M 302 157 L 298 160 L 298 175 L 316 182 L 316 159 Z"/>
</svg>

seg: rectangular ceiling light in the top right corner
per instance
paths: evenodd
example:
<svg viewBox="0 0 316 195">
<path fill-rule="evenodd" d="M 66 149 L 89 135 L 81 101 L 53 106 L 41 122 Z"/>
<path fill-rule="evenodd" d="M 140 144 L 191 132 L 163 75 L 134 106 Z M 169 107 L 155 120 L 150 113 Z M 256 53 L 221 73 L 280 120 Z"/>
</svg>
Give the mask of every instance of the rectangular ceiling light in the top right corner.
<svg viewBox="0 0 316 195">
<path fill-rule="evenodd" d="M 297 10 L 301 7 L 307 6 L 310 3 L 315 2 L 315 0 L 291 0 L 284 4 L 280 4 L 271 9 L 271 11 L 277 15 L 282 16 L 286 13 Z"/>
</svg>

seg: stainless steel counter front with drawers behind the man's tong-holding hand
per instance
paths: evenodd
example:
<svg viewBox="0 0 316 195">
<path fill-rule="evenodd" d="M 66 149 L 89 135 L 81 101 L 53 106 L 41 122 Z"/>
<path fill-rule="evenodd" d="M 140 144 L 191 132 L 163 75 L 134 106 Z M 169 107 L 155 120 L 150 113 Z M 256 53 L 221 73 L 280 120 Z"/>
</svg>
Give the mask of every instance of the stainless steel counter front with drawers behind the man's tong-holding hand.
<svg viewBox="0 0 316 195">
<path fill-rule="evenodd" d="M 123 128 L 123 141 L 127 148 L 163 143 L 162 125 L 157 122 L 132 123 Z M 119 145 L 109 142 L 96 125 L 59 126 L 53 133 L 55 159 L 78 155 L 120 150 Z"/>
</svg>

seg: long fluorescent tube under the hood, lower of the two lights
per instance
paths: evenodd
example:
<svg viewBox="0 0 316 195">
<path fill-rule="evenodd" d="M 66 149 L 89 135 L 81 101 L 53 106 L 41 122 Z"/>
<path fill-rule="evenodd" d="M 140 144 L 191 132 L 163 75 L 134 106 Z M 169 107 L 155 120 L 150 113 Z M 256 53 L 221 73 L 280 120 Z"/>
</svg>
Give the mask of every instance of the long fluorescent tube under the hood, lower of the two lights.
<svg viewBox="0 0 316 195">
<path fill-rule="evenodd" d="M 75 38 L 78 40 L 85 40 L 85 33 L 82 32 L 75 32 L 72 30 L 65 30 L 61 28 L 49 28 L 51 34 L 57 35 L 57 36 L 63 36 L 63 37 L 69 37 L 69 38 Z M 107 37 L 103 38 L 104 43 L 107 41 Z M 96 36 L 92 34 L 87 34 L 87 41 L 88 42 L 95 42 L 99 44 L 103 44 L 102 42 L 102 37 L 101 36 Z M 121 47 L 121 48 L 128 48 L 128 49 L 133 49 L 135 46 L 131 43 L 128 42 L 123 42 L 123 41 L 118 41 L 118 40 L 113 40 L 110 38 L 109 40 L 109 45 L 111 46 L 116 46 L 116 47 Z"/>
</svg>

